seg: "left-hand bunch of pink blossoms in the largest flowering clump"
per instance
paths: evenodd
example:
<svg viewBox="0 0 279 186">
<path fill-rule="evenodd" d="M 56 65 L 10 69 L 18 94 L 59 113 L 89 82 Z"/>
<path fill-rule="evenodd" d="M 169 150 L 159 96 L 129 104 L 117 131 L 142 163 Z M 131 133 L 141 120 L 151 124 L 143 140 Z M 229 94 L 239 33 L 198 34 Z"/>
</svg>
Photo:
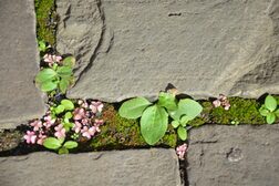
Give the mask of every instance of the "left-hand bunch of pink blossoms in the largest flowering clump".
<svg viewBox="0 0 279 186">
<path fill-rule="evenodd" d="M 55 120 L 52 120 L 50 112 L 46 112 L 46 115 L 42 120 L 34 120 L 30 122 L 32 126 L 31 131 L 27 131 L 27 134 L 23 136 L 28 144 L 39 144 L 42 145 L 43 141 L 48 137 L 50 127 L 54 125 Z"/>
</svg>

